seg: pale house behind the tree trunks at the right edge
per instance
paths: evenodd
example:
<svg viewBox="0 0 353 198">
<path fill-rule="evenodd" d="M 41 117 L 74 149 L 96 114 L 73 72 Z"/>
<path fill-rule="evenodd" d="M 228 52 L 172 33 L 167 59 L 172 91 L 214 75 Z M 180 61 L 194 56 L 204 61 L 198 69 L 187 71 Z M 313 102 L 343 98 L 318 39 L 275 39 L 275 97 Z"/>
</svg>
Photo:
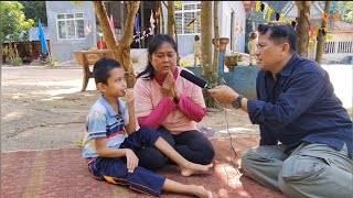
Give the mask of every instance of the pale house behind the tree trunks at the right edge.
<svg viewBox="0 0 353 198">
<path fill-rule="evenodd" d="M 320 1 L 312 1 L 310 7 L 310 25 L 311 28 L 318 30 L 322 23 L 324 4 Z M 289 1 L 285 8 L 281 10 L 281 13 L 286 19 L 296 21 L 298 15 L 298 9 L 293 1 Z M 324 45 L 323 53 L 323 63 L 324 62 L 340 62 L 346 56 L 351 56 L 353 53 L 353 24 L 339 20 L 334 22 L 333 19 L 330 19 L 328 25 L 328 34 L 332 36 L 332 40 L 327 40 Z M 315 46 L 315 40 L 314 46 Z M 315 47 L 309 50 L 309 57 L 314 58 Z"/>
</svg>

